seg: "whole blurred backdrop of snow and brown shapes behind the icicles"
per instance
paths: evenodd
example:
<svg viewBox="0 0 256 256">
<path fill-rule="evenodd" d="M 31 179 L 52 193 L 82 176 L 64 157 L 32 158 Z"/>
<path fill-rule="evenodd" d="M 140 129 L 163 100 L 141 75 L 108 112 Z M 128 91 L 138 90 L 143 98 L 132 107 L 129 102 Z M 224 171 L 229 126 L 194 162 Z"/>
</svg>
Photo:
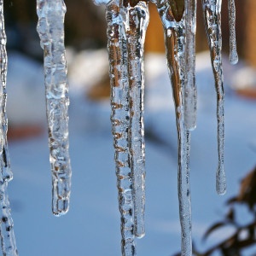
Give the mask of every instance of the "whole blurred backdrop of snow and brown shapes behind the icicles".
<svg viewBox="0 0 256 256">
<path fill-rule="evenodd" d="M 255 166 L 256 2 L 236 1 L 236 39 L 240 58 L 236 66 L 231 66 L 228 61 L 227 2 L 223 1 L 222 8 L 227 194 L 219 197 L 215 193 L 218 162 L 216 96 L 200 1 L 196 34 L 198 121 L 191 135 L 190 165 L 195 248 L 203 253 L 216 247 L 211 255 L 229 256 L 235 254 L 224 254 L 218 245 L 236 235 L 238 226 L 255 223 L 256 216 L 255 208 L 252 212 L 247 201 L 241 201 L 239 207 L 226 204 L 239 194 L 241 180 Z M 105 11 L 91 0 L 66 0 L 65 3 L 73 190 L 70 212 L 55 218 L 50 211 L 43 50 L 36 31 L 36 1 L 4 1 L 9 55 L 8 136 L 15 175 L 9 184 L 9 199 L 17 246 L 20 255 L 28 256 L 120 255 L 119 210 L 109 120 Z M 149 9 L 145 44 L 147 235 L 137 241 L 137 255 L 170 256 L 180 247 L 177 132 L 163 31 L 155 6 L 149 4 Z M 249 183 L 246 188 L 252 190 L 253 186 L 255 183 Z M 250 197 L 253 204 L 255 197 Z M 237 225 L 230 224 L 227 218 L 230 209 L 236 212 L 232 221 Z M 221 229 L 214 230 L 203 241 L 209 227 L 218 222 L 224 223 Z M 255 235 L 252 238 L 247 229 L 242 231 L 239 231 L 239 239 L 251 243 L 241 247 L 241 254 L 237 255 L 256 255 Z M 237 241 L 235 244 L 240 248 Z"/>
</svg>

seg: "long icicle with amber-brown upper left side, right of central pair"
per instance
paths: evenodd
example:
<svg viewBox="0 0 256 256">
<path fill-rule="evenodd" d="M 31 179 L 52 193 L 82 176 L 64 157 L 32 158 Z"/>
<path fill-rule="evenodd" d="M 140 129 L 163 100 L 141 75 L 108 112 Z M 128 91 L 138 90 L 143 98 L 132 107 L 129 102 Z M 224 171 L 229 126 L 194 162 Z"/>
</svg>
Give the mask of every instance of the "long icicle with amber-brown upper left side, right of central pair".
<svg viewBox="0 0 256 256">
<path fill-rule="evenodd" d="M 178 200 L 181 222 L 182 255 L 192 255 L 191 200 L 189 188 L 190 134 L 184 124 L 184 84 L 185 84 L 185 22 L 176 21 L 169 3 L 159 1 L 158 11 L 164 26 L 166 58 L 172 94 L 176 107 L 178 136 Z"/>
</svg>

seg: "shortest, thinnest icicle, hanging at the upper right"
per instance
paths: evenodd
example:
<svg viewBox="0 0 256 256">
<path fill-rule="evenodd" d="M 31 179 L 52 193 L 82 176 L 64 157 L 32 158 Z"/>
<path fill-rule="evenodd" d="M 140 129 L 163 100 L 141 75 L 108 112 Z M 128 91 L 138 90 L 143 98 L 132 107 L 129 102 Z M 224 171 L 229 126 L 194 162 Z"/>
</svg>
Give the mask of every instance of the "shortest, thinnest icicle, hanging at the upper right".
<svg viewBox="0 0 256 256">
<path fill-rule="evenodd" d="M 236 51 L 236 6 L 234 0 L 229 0 L 229 25 L 230 25 L 230 63 L 238 62 Z"/>
</svg>

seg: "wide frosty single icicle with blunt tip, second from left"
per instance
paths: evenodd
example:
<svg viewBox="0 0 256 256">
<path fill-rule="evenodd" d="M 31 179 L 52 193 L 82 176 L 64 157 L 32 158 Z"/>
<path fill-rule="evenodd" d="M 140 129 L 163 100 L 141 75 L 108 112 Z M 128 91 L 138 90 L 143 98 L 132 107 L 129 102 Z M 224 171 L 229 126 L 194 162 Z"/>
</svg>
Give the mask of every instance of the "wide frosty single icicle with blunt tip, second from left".
<svg viewBox="0 0 256 256">
<path fill-rule="evenodd" d="M 67 61 L 64 46 L 63 0 L 38 0 L 38 34 L 44 49 L 44 80 L 52 170 L 52 211 L 65 214 L 69 207 L 71 166 L 68 153 Z"/>
</svg>

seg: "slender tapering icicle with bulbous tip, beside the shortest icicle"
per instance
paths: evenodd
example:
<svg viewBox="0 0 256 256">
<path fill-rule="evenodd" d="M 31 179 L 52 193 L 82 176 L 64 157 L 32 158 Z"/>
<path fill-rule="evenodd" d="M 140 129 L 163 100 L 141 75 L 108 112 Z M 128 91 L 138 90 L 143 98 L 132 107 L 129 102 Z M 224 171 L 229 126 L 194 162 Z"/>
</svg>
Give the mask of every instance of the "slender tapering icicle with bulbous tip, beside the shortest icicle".
<svg viewBox="0 0 256 256">
<path fill-rule="evenodd" d="M 224 173 L 224 87 L 221 58 L 221 2 L 222 0 L 202 0 L 208 44 L 211 52 L 212 71 L 217 92 L 218 169 L 216 172 L 216 189 L 219 195 L 224 195 L 226 192 L 226 178 Z"/>
</svg>

